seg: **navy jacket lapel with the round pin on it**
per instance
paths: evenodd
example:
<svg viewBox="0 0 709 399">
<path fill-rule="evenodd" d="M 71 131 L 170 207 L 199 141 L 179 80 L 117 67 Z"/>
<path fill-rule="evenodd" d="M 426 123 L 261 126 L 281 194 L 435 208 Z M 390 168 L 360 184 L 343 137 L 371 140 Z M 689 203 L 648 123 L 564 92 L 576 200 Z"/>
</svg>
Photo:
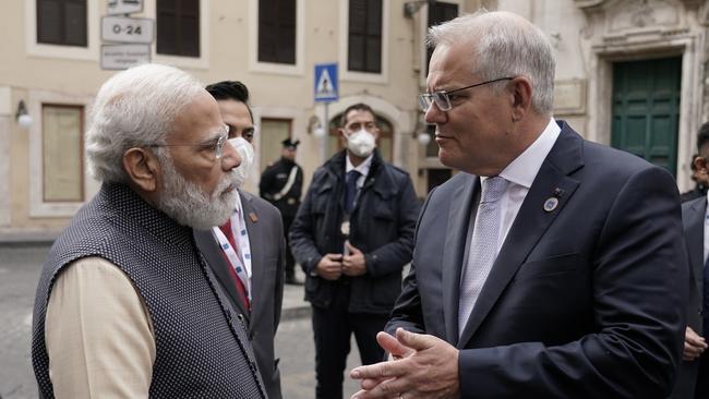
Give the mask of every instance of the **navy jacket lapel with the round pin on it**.
<svg viewBox="0 0 709 399">
<path fill-rule="evenodd" d="M 581 146 L 582 138 L 566 124 L 562 125 L 562 132 L 542 162 L 497 254 L 468 318 L 458 348 L 464 348 L 474 335 L 527 255 L 556 216 L 564 210 L 564 205 L 578 188 L 579 181 L 568 174 L 584 166 Z M 551 197 L 556 197 L 558 204 L 553 210 L 546 211 L 544 203 Z"/>
</svg>

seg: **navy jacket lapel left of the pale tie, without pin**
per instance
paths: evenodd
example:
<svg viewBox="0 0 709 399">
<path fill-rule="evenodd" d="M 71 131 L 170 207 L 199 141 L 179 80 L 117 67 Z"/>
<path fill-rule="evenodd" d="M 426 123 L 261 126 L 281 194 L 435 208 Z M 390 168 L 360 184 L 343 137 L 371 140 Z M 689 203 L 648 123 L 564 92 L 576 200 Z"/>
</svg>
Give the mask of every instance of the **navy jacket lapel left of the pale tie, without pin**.
<svg viewBox="0 0 709 399">
<path fill-rule="evenodd" d="M 443 314 L 446 327 L 446 340 L 458 342 L 458 302 L 460 297 L 460 270 L 462 267 L 470 209 L 476 192 L 480 190 L 478 177 L 470 176 L 453 196 L 448 211 L 448 223 L 443 252 Z"/>
</svg>

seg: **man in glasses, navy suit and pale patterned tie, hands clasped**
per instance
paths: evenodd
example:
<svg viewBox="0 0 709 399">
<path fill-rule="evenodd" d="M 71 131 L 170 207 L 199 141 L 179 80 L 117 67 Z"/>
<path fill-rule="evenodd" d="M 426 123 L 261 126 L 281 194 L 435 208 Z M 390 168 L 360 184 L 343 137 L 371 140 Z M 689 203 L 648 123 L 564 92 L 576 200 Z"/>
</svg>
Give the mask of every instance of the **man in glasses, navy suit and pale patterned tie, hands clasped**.
<svg viewBox="0 0 709 399">
<path fill-rule="evenodd" d="M 689 286 L 672 176 L 554 120 L 554 50 L 522 17 L 428 43 L 420 100 L 461 173 L 423 205 L 392 360 L 354 368 L 354 397 L 665 398 Z"/>
</svg>

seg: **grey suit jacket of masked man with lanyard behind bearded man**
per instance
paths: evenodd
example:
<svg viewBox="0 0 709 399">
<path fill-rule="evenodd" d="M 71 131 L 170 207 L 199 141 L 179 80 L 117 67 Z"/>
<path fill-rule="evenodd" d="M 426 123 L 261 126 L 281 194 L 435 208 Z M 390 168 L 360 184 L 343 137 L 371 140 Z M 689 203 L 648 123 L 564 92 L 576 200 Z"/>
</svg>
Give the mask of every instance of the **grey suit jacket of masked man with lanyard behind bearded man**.
<svg viewBox="0 0 709 399">
<path fill-rule="evenodd" d="M 239 191 L 239 195 L 251 244 L 251 312 L 239 298 L 227 269 L 231 266 L 225 259 L 214 233 L 211 230 L 195 230 L 194 240 L 223 288 L 229 293 L 235 311 L 248 326 L 268 398 L 280 399 L 280 372 L 278 361 L 275 360 L 274 338 L 284 298 L 283 221 L 278 209 L 266 201 L 243 191 Z"/>
</svg>

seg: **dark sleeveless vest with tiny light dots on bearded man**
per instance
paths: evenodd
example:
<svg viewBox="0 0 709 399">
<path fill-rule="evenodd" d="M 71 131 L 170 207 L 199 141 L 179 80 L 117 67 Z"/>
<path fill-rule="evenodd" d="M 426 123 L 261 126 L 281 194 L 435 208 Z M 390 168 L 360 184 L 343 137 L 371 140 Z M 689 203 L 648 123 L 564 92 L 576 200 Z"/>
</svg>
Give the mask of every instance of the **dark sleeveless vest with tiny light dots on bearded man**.
<svg viewBox="0 0 709 399">
<path fill-rule="evenodd" d="M 247 331 L 218 292 L 192 230 L 123 184 L 104 184 L 49 251 L 35 299 L 32 362 L 45 398 L 53 398 L 45 315 L 62 268 L 100 256 L 133 281 L 155 329 L 153 398 L 266 398 Z"/>
</svg>

